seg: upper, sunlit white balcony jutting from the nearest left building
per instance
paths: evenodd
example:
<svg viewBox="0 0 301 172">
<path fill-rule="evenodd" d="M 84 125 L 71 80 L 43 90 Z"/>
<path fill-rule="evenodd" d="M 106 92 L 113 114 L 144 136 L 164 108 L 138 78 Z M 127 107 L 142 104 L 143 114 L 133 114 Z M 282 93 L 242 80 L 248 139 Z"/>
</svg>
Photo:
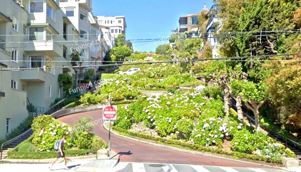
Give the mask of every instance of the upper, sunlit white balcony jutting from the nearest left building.
<svg viewBox="0 0 301 172">
<path fill-rule="evenodd" d="M 36 53 L 36 51 L 46 52 L 52 57 L 61 57 L 61 54 L 63 54 L 61 45 L 53 40 L 26 41 L 23 50 L 28 54 Z"/>
</svg>

